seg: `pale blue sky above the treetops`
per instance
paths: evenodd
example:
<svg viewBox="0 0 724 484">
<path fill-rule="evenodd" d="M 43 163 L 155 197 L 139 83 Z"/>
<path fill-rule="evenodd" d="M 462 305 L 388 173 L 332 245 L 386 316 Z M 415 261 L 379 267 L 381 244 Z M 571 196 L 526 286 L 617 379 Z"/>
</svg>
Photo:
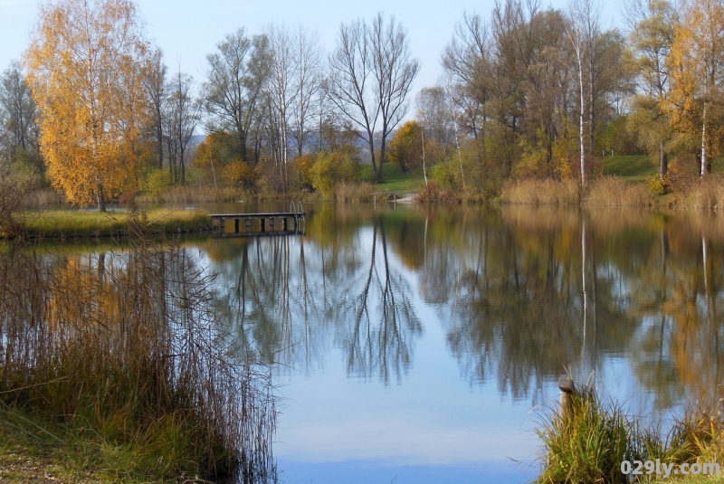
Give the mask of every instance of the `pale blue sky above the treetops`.
<svg viewBox="0 0 724 484">
<path fill-rule="evenodd" d="M 567 8 L 567 0 L 540 0 L 542 6 Z M 603 2 L 604 24 L 616 22 L 619 0 Z M 455 23 L 464 11 L 490 14 L 493 0 L 137 0 L 148 23 L 148 35 L 165 52 L 172 71 L 181 71 L 203 81 L 205 55 L 214 52 L 225 33 L 244 27 L 260 33 L 265 25 L 305 25 L 316 31 L 329 52 L 334 47 L 340 23 L 359 17 L 371 19 L 377 12 L 395 15 L 407 29 L 410 48 L 421 63 L 414 91 L 431 86 L 442 75 L 440 54 L 452 38 Z M 36 22 L 36 0 L 0 0 L 0 71 L 19 59 Z"/>
</svg>

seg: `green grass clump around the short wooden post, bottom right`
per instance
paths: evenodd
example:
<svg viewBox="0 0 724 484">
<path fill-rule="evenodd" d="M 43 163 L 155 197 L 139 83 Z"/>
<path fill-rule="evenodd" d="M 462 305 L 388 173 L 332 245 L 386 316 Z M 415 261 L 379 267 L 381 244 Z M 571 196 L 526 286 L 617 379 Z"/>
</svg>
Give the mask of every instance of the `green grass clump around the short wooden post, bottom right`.
<svg viewBox="0 0 724 484">
<path fill-rule="evenodd" d="M 551 410 L 538 430 L 544 451 L 538 483 L 627 483 L 621 471 L 628 460 L 662 464 L 722 462 L 724 422 L 703 407 L 687 411 L 662 435 L 613 399 L 603 399 L 591 385 L 578 389 L 567 413 Z"/>
</svg>

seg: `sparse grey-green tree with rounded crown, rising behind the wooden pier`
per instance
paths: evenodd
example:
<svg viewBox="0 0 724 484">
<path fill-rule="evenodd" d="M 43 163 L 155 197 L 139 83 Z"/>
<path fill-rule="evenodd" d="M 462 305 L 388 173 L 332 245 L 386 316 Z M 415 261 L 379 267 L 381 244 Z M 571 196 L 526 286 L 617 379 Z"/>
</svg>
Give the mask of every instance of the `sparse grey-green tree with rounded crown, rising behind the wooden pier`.
<svg viewBox="0 0 724 484">
<path fill-rule="evenodd" d="M 218 52 L 206 56 L 205 108 L 211 115 L 210 131 L 231 132 L 237 152 L 247 160 L 247 141 L 258 122 L 262 87 L 269 72 L 269 42 L 265 35 L 251 39 L 243 28 L 224 37 Z M 258 139 L 254 147 L 258 153 Z"/>
</svg>

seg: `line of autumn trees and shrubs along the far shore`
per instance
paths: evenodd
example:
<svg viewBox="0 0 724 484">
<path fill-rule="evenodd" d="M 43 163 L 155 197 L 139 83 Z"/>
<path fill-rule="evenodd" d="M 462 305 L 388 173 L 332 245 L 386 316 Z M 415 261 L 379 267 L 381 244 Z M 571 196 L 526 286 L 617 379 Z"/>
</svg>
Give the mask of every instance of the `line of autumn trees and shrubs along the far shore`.
<svg viewBox="0 0 724 484">
<path fill-rule="evenodd" d="M 419 62 L 384 14 L 340 24 L 331 52 L 302 26 L 240 28 L 196 82 L 167 67 L 132 0 L 47 0 L 0 77 L 0 159 L 101 210 L 171 185 L 325 192 L 360 162 L 375 182 L 391 162 L 482 195 L 522 177 L 585 185 L 602 155 L 649 154 L 662 183 L 672 160 L 710 173 L 724 1 L 631 0 L 624 16 L 605 27 L 594 0 L 462 14 L 441 80 L 412 99 Z"/>
</svg>

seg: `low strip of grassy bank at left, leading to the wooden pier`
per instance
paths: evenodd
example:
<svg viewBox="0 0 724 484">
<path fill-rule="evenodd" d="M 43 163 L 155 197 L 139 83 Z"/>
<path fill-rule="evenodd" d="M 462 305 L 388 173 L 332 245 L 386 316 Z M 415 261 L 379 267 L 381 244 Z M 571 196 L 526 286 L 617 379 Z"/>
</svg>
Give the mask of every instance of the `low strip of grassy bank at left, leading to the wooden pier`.
<svg viewBox="0 0 724 484">
<path fill-rule="evenodd" d="M 22 233 L 38 239 L 127 235 L 129 212 L 46 210 L 16 215 Z M 188 233 L 211 229 L 211 219 L 200 210 L 157 209 L 140 214 L 140 222 L 158 233 Z M 7 234 L 5 234 L 5 238 Z"/>
</svg>

